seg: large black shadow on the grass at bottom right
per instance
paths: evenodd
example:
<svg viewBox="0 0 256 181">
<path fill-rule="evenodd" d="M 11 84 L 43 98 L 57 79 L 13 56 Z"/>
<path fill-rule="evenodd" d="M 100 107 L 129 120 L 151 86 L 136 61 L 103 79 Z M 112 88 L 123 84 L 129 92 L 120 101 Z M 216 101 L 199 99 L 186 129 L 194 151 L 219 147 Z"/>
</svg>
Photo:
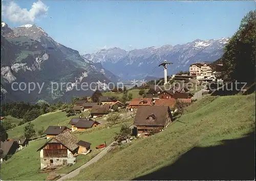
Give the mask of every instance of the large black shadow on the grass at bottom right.
<svg viewBox="0 0 256 181">
<path fill-rule="evenodd" d="M 222 145 L 194 147 L 172 165 L 134 180 L 253 180 L 255 131 Z"/>
</svg>

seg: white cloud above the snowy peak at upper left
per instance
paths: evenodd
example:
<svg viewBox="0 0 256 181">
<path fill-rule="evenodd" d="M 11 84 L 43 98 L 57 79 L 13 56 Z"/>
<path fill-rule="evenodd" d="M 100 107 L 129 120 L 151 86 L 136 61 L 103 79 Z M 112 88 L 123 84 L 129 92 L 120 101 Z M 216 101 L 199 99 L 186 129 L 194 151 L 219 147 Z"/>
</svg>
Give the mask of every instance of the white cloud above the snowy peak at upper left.
<svg viewBox="0 0 256 181">
<path fill-rule="evenodd" d="M 16 3 L 9 2 L 6 5 L 2 5 L 2 16 L 6 17 L 12 22 L 34 22 L 35 19 L 46 16 L 48 6 L 41 1 L 33 3 L 30 10 L 27 8 L 20 8 Z"/>
</svg>

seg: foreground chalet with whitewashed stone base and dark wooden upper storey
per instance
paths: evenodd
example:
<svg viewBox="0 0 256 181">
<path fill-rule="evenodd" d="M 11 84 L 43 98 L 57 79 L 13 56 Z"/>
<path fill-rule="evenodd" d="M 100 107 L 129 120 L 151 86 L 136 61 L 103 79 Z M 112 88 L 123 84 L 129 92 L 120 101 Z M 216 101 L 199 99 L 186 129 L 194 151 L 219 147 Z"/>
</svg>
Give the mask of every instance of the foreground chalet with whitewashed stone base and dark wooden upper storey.
<svg viewBox="0 0 256 181">
<path fill-rule="evenodd" d="M 41 169 L 75 164 L 79 150 L 78 142 L 69 130 L 51 138 L 37 150 L 40 151 Z"/>
</svg>

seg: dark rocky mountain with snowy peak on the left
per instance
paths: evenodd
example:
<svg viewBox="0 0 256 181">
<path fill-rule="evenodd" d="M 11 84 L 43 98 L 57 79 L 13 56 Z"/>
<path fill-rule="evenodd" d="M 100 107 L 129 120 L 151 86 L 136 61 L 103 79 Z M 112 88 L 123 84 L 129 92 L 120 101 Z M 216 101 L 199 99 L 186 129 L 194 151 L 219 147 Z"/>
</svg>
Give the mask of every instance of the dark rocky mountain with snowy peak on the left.
<svg viewBox="0 0 256 181">
<path fill-rule="evenodd" d="M 1 29 L 1 99 L 6 101 L 36 102 L 45 100 L 70 101 L 76 96 L 90 96 L 93 90 L 75 90 L 82 82 L 97 82 L 107 88 L 109 82 L 116 83 L 118 77 L 104 69 L 100 62 L 84 59 L 78 51 L 54 41 L 43 29 L 36 25 L 24 25 L 11 29 L 2 21 Z M 13 82 L 44 83 L 41 93 L 37 87 L 28 93 L 13 90 Z M 56 82 L 52 93 L 52 82 Z M 67 86 L 67 83 L 70 84 Z M 57 89 L 57 83 L 59 88 Z M 60 88 L 60 83 L 62 88 Z M 32 85 L 31 85 L 32 86 Z M 95 88 L 92 85 L 92 88 Z M 18 87 L 14 84 L 14 88 Z M 22 89 L 24 84 L 22 85 Z M 73 90 L 72 90 L 73 87 Z M 32 87 L 33 88 L 33 87 Z"/>
</svg>

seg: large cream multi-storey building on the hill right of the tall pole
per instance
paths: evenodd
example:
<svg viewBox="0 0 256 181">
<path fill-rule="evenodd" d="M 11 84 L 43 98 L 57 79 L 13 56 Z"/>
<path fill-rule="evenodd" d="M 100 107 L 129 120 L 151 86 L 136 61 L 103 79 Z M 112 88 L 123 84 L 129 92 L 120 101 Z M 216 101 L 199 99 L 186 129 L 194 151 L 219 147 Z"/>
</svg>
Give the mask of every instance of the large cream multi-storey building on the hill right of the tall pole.
<svg viewBox="0 0 256 181">
<path fill-rule="evenodd" d="M 193 63 L 189 66 L 190 76 L 211 76 L 211 66 L 205 62 Z"/>
</svg>

